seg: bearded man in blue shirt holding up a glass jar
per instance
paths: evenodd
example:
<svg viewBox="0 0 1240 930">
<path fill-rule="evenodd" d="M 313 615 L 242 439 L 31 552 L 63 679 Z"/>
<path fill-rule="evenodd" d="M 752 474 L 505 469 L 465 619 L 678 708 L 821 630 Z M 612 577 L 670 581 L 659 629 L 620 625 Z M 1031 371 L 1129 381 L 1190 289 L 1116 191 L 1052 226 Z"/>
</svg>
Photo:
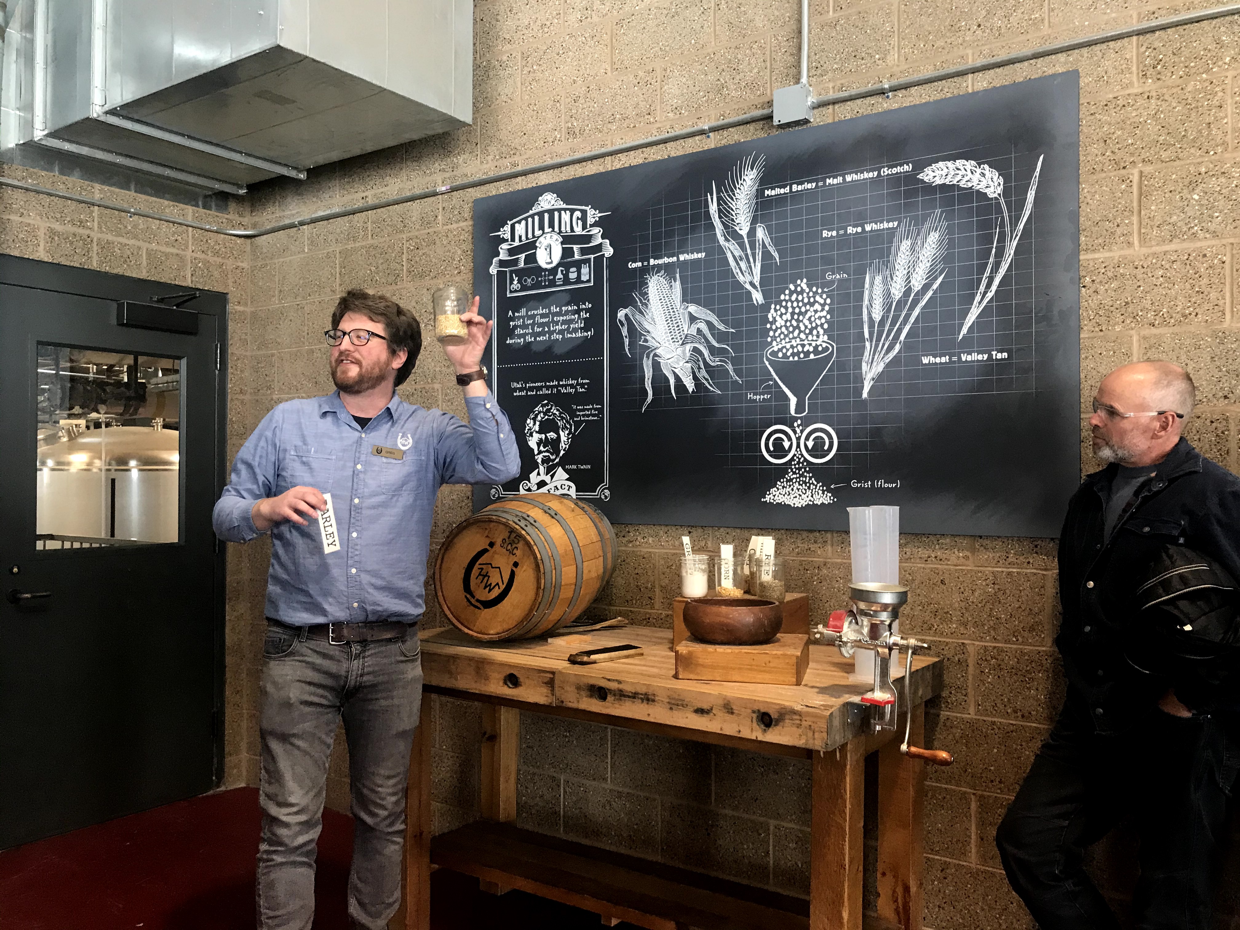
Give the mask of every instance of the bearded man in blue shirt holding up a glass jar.
<svg viewBox="0 0 1240 930">
<path fill-rule="evenodd" d="M 259 733 L 263 831 L 258 926 L 310 930 L 315 842 L 337 722 L 348 739 L 355 818 L 351 925 L 382 930 L 401 903 L 409 750 L 422 662 L 417 622 L 443 484 L 503 484 L 521 466 L 508 419 L 486 387 L 492 324 L 477 299 L 469 339 L 445 346 L 470 424 L 413 407 L 396 387 L 422 348 L 418 320 L 381 295 L 336 305 L 336 391 L 272 410 L 233 463 L 216 533 L 272 533 Z"/>
</svg>

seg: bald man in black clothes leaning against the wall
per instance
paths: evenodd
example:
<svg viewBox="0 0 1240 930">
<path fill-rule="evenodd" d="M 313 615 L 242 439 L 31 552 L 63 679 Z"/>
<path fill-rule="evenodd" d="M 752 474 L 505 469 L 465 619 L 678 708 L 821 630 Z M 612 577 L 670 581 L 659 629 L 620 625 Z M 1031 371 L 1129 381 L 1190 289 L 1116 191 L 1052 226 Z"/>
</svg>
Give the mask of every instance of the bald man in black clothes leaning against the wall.
<svg viewBox="0 0 1240 930">
<path fill-rule="evenodd" d="M 1043 930 L 1118 930 L 1081 862 L 1123 820 L 1141 837 L 1133 925 L 1211 925 L 1240 769 L 1240 479 L 1180 436 L 1194 399 L 1168 362 L 1122 366 L 1094 398 L 1107 466 L 1073 496 L 1059 541 L 1068 698 L 996 837 Z"/>
</svg>

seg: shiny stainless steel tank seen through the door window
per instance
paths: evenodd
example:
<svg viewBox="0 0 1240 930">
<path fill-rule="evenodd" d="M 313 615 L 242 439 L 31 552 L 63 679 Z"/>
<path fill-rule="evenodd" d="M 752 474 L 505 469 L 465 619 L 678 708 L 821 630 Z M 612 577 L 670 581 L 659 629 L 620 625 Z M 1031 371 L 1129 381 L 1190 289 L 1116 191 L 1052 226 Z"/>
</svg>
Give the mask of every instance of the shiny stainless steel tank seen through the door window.
<svg viewBox="0 0 1240 930">
<path fill-rule="evenodd" d="M 159 427 L 41 427 L 40 536 L 176 542 L 180 434 Z"/>
</svg>

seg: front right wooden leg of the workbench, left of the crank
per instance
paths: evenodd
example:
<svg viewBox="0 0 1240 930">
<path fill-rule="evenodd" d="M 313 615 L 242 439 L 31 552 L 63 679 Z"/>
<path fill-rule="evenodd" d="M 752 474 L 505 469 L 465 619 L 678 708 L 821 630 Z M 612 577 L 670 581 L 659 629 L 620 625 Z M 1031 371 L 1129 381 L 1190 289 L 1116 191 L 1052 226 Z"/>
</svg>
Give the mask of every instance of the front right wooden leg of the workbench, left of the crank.
<svg viewBox="0 0 1240 930">
<path fill-rule="evenodd" d="M 810 930 L 861 930 L 864 738 L 813 754 Z"/>
</svg>

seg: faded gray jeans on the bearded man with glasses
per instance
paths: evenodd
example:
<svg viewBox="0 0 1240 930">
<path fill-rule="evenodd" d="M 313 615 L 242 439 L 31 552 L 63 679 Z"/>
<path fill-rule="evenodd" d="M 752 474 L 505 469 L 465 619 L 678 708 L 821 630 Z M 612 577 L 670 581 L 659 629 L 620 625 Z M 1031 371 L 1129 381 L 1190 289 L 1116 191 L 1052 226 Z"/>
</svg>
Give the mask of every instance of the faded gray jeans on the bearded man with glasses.
<svg viewBox="0 0 1240 930">
<path fill-rule="evenodd" d="M 350 924 L 387 928 L 401 905 L 405 786 L 420 704 L 417 626 L 403 640 L 332 645 L 268 625 L 259 719 L 259 930 L 310 930 L 314 921 L 315 843 L 341 719 L 353 813 Z"/>
</svg>

